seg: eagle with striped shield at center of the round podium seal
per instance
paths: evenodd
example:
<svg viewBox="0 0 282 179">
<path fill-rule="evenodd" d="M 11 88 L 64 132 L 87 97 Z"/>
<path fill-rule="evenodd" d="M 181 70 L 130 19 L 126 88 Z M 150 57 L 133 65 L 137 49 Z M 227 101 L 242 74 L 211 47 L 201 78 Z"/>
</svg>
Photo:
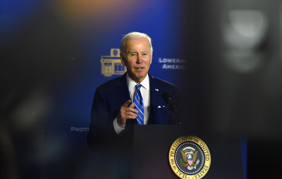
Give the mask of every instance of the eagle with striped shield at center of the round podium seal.
<svg viewBox="0 0 282 179">
<path fill-rule="evenodd" d="M 200 160 L 198 159 L 196 164 L 194 164 L 194 162 L 196 161 L 197 158 L 197 153 L 198 151 L 194 148 L 194 147 L 184 147 L 180 150 L 180 152 L 182 153 L 182 158 L 184 160 L 184 162 L 186 162 L 186 164 L 183 162 L 182 159 L 180 159 L 180 164 L 182 167 L 186 168 L 188 170 L 192 170 L 193 168 L 196 169 L 196 166 L 198 165 L 198 163 L 200 162 Z"/>
</svg>

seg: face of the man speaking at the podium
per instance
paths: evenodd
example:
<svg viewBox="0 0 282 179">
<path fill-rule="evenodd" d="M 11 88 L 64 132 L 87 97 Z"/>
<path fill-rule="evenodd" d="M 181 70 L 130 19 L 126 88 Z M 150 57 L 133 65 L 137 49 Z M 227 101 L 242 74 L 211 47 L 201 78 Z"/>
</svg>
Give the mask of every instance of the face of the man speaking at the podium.
<svg viewBox="0 0 282 179">
<path fill-rule="evenodd" d="M 130 78 L 139 84 L 146 77 L 152 63 L 148 39 L 130 39 L 125 49 L 125 57 L 120 54 L 121 62 L 126 66 Z"/>
</svg>

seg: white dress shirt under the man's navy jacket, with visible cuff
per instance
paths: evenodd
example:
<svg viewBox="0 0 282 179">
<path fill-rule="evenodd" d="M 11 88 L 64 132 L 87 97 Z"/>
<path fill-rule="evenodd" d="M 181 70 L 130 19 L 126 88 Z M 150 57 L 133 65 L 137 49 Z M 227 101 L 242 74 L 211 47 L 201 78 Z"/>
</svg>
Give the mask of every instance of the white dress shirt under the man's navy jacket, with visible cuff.
<svg viewBox="0 0 282 179">
<path fill-rule="evenodd" d="M 136 87 L 135 85 L 137 84 L 133 79 L 131 79 L 128 75 L 126 74 L 126 81 L 127 81 L 127 86 L 128 86 L 128 91 L 130 93 L 130 98 L 131 102 L 134 102 L 134 95 L 136 92 Z M 146 75 L 145 79 L 140 83 L 142 84 L 142 87 L 140 88 L 140 92 L 143 98 L 143 105 L 144 105 L 144 124 L 148 123 L 148 118 L 150 116 L 150 81 L 149 81 L 149 76 L 148 74 Z M 127 119 L 131 120 L 131 119 Z M 117 125 L 117 118 L 113 121 L 114 129 L 117 134 L 122 132 L 124 130 L 125 125 L 120 127 Z"/>
</svg>

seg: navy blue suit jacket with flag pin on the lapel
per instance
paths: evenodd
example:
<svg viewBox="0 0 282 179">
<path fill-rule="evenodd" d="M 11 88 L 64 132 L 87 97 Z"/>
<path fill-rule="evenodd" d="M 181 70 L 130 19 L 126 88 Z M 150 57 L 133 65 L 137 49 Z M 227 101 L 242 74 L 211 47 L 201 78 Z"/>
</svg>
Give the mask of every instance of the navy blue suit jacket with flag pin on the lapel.
<svg viewBox="0 0 282 179">
<path fill-rule="evenodd" d="M 162 98 L 162 93 L 167 91 L 176 99 L 176 86 L 152 77 L 149 73 L 148 75 L 151 110 L 147 124 L 177 124 L 177 116 L 169 110 L 168 105 Z M 103 142 L 122 136 L 132 128 L 132 125 L 137 124 L 136 119 L 128 119 L 125 123 L 125 130 L 119 135 L 114 130 L 113 120 L 117 117 L 120 107 L 127 100 L 131 100 L 131 98 L 126 81 L 126 73 L 97 87 L 87 135 L 88 146 L 91 150 L 97 150 Z"/>
</svg>

